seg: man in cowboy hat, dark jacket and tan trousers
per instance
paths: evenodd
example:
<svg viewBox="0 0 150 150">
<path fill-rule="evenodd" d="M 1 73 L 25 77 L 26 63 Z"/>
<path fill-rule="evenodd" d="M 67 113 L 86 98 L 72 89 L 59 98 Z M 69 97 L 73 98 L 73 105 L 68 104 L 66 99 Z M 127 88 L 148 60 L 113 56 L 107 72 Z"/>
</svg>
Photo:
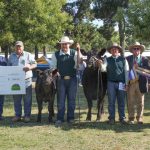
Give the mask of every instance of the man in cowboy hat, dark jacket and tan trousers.
<svg viewBox="0 0 150 150">
<path fill-rule="evenodd" d="M 135 119 L 135 106 L 137 110 L 137 122 L 143 124 L 143 110 L 144 110 L 144 93 L 148 91 L 148 80 L 145 76 L 138 75 L 135 71 L 136 67 L 142 67 L 148 69 L 148 59 L 141 56 L 144 51 L 144 45 L 139 42 L 135 42 L 129 46 L 129 51 L 133 54 L 127 57 L 129 63 L 129 87 L 127 91 L 128 95 L 128 117 L 129 123 L 134 124 Z"/>
</svg>

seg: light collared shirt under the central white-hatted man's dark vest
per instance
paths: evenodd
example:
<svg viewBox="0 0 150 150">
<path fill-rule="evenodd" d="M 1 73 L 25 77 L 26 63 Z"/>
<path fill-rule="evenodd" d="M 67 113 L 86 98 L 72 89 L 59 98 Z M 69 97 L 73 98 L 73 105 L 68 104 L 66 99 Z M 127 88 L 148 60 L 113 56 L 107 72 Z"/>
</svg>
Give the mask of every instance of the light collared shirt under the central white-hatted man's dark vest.
<svg viewBox="0 0 150 150">
<path fill-rule="evenodd" d="M 66 54 L 70 55 L 70 49 L 67 51 L 67 53 L 64 53 L 62 50 L 60 50 L 59 52 L 59 55 L 66 55 Z M 74 68 L 77 68 L 77 52 L 75 52 L 74 61 L 75 61 Z M 53 69 L 57 68 L 57 59 L 56 59 L 55 53 L 52 55 L 51 68 Z"/>
</svg>

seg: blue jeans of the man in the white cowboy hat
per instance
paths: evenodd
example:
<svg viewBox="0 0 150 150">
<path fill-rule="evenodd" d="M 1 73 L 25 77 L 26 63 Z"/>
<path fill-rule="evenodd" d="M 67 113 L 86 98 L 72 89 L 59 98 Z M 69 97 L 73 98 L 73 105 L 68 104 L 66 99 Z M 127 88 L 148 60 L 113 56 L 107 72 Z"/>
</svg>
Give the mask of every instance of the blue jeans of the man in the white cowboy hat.
<svg viewBox="0 0 150 150">
<path fill-rule="evenodd" d="M 64 121 L 65 100 L 67 98 L 67 121 L 74 119 L 75 99 L 77 92 L 77 78 L 73 77 L 69 80 L 58 80 L 57 92 L 57 120 Z"/>
</svg>

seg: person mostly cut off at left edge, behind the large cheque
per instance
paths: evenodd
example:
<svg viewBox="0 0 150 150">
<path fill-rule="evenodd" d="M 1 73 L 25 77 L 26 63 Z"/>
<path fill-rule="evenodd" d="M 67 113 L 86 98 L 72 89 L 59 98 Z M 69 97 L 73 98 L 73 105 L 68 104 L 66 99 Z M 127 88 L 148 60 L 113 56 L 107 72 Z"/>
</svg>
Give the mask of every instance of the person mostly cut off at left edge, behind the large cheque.
<svg viewBox="0 0 150 150">
<path fill-rule="evenodd" d="M 0 66 L 7 66 L 5 57 L 0 56 Z M 0 95 L 0 121 L 3 120 L 4 95 Z"/>
</svg>

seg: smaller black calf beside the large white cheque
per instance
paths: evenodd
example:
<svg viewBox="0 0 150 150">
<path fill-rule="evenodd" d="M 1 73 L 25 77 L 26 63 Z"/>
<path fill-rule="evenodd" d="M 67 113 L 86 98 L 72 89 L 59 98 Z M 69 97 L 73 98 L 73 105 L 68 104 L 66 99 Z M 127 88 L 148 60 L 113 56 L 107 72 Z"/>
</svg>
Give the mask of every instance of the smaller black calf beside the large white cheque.
<svg viewBox="0 0 150 150">
<path fill-rule="evenodd" d="M 35 85 L 36 99 L 38 103 L 38 117 L 37 122 L 41 122 L 41 113 L 43 108 L 43 102 L 48 102 L 49 117 L 48 121 L 52 122 L 54 116 L 54 99 L 56 94 L 56 79 L 57 70 L 51 71 L 49 69 L 45 71 L 37 70 L 37 80 Z"/>
</svg>

